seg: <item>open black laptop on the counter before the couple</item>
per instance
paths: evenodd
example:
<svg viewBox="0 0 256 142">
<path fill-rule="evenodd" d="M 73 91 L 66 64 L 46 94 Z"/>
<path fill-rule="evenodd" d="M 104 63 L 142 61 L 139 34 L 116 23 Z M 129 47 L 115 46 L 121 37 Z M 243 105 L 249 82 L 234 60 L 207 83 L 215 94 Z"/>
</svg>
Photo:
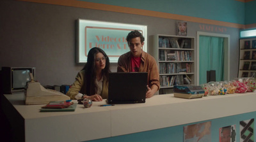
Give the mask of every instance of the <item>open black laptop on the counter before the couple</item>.
<svg viewBox="0 0 256 142">
<path fill-rule="evenodd" d="M 145 103 L 147 76 L 145 72 L 110 73 L 107 103 Z"/>
</svg>

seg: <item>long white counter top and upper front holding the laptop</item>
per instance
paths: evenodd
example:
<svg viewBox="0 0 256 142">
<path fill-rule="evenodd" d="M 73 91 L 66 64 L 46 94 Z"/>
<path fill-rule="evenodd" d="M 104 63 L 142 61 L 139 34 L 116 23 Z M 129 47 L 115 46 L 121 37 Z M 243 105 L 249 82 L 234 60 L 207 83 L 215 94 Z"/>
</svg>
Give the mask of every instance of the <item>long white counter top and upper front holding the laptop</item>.
<svg viewBox="0 0 256 142">
<path fill-rule="evenodd" d="M 23 94 L 3 97 L 4 112 L 11 117 L 14 129 L 24 129 L 19 137 L 26 141 L 86 141 L 256 111 L 255 92 L 200 99 L 167 94 L 146 99 L 143 104 L 99 106 L 106 104 L 102 101 L 93 102 L 91 108 L 78 104 L 71 112 L 39 112 L 44 104 L 25 105 Z"/>
</svg>

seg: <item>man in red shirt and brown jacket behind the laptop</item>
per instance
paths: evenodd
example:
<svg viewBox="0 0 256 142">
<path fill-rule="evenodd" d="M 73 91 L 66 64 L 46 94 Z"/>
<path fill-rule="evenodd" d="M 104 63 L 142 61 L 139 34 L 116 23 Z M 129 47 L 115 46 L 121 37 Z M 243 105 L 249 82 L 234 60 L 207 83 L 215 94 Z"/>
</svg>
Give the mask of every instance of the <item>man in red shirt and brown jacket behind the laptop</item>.
<svg viewBox="0 0 256 142">
<path fill-rule="evenodd" d="M 147 72 L 146 98 L 154 96 L 160 89 L 159 71 L 154 57 L 142 50 L 144 37 L 139 31 L 131 31 L 126 37 L 130 51 L 121 55 L 117 63 L 117 72 Z"/>
</svg>

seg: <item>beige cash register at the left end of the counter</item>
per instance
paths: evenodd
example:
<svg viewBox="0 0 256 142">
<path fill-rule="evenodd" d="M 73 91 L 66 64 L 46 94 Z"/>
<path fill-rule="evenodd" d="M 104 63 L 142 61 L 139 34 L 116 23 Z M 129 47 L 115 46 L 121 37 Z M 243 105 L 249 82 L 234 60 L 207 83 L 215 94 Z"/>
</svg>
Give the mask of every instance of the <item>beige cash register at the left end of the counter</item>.
<svg viewBox="0 0 256 142">
<path fill-rule="evenodd" d="M 31 82 L 28 82 L 25 89 L 25 104 L 47 104 L 50 101 L 66 101 L 70 99 L 67 95 L 56 90 L 45 89 L 39 82 L 35 82 L 30 74 Z"/>
</svg>

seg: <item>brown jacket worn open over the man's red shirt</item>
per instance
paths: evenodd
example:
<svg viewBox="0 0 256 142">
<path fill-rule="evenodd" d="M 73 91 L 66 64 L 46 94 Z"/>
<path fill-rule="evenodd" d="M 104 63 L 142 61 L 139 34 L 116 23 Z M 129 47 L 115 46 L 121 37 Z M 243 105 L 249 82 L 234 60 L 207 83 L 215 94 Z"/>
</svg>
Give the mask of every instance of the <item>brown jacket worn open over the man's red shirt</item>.
<svg viewBox="0 0 256 142">
<path fill-rule="evenodd" d="M 131 52 L 124 53 L 118 59 L 117 63 L 117 72 L 131 72 Z M 153 84 L 157 85 L 158 90 L 160 89 L 159 82 L 159 71 L 154 57 L 148 53 L 142 51 L 141 53 L 141 64 L 139 72 L 148 73 L 148 87 L 151 87 Z"/>
</svg>

